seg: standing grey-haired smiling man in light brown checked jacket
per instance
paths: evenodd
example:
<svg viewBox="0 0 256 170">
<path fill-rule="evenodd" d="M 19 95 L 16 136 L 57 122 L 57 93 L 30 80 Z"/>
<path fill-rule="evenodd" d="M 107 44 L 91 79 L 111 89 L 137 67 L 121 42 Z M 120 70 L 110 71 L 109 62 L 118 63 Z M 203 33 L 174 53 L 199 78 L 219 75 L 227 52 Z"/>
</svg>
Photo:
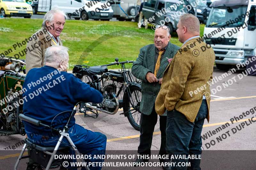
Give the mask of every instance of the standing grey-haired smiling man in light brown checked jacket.
<svg viewBox="0 0 256 170">
<path fill-rule="evenodd" d="M 45 14 L 42 28 L 34 34 L 37 39 L 29 41 L 27 44 L 27 48 L 34 48 L 31 48 L 32 50 L 26 54 L 26 73 L 32 68 L 44 65 L 44 53 L 48 47 L 63 45 L 60 40 L 60 33 L 67 18 L 66 13 L 57 9 Z"/>
</svg>

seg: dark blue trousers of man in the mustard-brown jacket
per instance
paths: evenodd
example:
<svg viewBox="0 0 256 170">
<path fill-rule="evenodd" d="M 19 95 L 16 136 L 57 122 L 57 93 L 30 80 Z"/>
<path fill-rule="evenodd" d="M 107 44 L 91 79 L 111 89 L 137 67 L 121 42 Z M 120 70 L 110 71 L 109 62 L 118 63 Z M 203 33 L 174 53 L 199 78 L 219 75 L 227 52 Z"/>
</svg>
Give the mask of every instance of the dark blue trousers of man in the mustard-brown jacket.
<svg viewBox="0 0 256 170">
<path fill-rule="evenodd" d="M 202 138 L 201 132 L 204 119 L 208 113 L 206 100 L 202 101 L 197 113 L 195 122 L 188 119 L 177 110 L 167 112 L 166 126 L 166 150 L 170 155 L 201 155 Z M 190 162 L 190 167 L 174 166 L 172 170 L 200 170 L 200 159 L 172 159 L 179 165 L 179 162 Z"/>
</svg>

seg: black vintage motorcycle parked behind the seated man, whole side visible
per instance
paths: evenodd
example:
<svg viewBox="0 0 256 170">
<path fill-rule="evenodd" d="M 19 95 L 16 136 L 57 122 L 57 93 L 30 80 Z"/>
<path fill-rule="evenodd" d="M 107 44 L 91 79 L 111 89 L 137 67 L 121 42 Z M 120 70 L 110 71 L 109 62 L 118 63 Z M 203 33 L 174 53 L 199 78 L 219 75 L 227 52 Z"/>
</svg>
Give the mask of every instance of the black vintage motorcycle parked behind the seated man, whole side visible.
<svg viewBox="0 0 256 170">
<path fill-rule="evenodd" d="M 101 66 L 75 65 L 73 73 L 76 77 L 99 90 L 103 95 L 101 103 L 80 104 L 80 112 L 85 116 L 97 118 L 98 111 L 114 115 L 119 108 L 123 108 L 124 112 L 121 114 L 128 118 L 134 129 L 140 130 L 141 83 L 137 79 L 134 80 L 130 70 L 125 67 L 126 63 L 133 62 L 128 60 L 119 62 L 116 58 L 115 62 Z M 121 65 L 121 70 L 108 70 L 108 66 L 111 65 Z"/>
</svg>

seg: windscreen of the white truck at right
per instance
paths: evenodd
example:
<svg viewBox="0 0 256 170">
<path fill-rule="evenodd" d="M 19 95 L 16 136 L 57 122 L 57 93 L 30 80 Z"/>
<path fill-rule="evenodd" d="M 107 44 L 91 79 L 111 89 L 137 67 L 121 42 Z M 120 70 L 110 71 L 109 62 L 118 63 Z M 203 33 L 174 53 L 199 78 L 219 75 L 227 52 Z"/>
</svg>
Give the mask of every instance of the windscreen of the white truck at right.
<svg viewBox="0 0 256 170">
<path fill-rule="evenodd" d="M 234 7 L 220 7 L 212 8 L 209 18 L 206 23 L 206 27 L 223 27 L 227 26 L 226 22 L 230 22 L 228 27 L 237 27 L 244 25 L 245 17 L 241 17 L 242 14 L 245 15 L 247 10 L 246 5 L 234 6 Z"/>
</svg>

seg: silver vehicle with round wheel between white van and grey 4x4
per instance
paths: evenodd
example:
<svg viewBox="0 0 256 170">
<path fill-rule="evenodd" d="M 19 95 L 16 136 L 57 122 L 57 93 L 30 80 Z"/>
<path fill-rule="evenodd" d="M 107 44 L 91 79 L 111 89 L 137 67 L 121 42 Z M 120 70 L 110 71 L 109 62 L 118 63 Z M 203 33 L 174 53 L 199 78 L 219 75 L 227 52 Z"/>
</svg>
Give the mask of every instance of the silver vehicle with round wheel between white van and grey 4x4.
<svg viewBox="0 0 256 170">
<path fill-rule="evenodd" d="M 119 21 L 132 21 L 137 15 L 137 0 L 114 0 L 111 1 L 111 7 L 114 11 L 114 17 Z"/>
</svg>

